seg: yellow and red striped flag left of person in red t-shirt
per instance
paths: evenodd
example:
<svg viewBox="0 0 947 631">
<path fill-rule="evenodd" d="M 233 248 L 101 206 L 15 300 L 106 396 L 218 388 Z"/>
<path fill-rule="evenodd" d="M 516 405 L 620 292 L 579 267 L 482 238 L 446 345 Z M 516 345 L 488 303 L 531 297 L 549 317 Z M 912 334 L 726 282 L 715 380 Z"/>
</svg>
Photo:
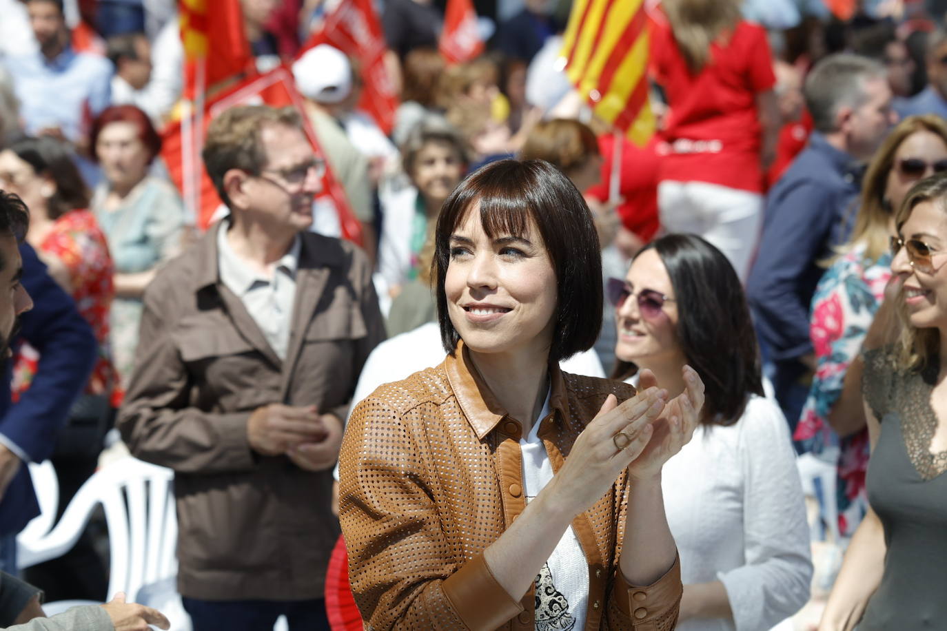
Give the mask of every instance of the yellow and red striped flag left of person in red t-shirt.
<svg viewBox="0 0 947 631">
<path fill-rule="evenodd" d="M 646 0 L 575 0 L 563 39 L 565 74 L 602 120 L 644 146 L 648 102 Z"/>
</svg>

